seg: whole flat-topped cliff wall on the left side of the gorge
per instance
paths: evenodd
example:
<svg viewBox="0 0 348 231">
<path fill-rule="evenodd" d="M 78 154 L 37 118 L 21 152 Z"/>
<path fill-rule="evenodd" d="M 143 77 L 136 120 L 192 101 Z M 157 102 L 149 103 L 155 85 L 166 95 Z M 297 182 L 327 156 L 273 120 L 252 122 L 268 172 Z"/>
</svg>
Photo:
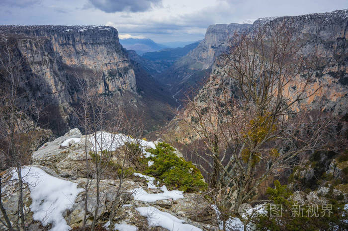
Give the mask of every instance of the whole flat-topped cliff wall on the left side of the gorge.
<svg viewBox="0 0 348 231">
<path fill-rule="evenodd" d="M 1 52 L 9 46 L 12 61 L 20 61 L 17 74 L 27 92 L 21 103 L 42 106 L 40 125 L 53 129 L 54 134 L 77 126 L 73 107 L 79 104 L 79 78 L 96 77 L 100 93 L 112 95 L 129 113 L 145 112 L 147 129 L 172 118 L 161 114 L 171 114 L 166 97 L 144 97 L 139 90 L 153 81 L 131 63 L 113 27 L 0 26 L 0 37 Z M 2 83 L 5 78 L 1 75 Z M 146 87 L 150 91 L 161 88 L 159 84 Z M 151 100 L 164 109 L 149 107 Z M 152 114 L 157 118 L 151 118 Z"/>
</svg>

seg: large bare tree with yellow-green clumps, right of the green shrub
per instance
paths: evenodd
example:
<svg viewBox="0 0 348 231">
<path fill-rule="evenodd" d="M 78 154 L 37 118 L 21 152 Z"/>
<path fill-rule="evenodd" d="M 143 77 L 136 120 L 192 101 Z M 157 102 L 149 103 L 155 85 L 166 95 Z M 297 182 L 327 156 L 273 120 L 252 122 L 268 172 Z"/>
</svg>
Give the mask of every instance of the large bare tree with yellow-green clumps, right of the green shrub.
<svg viewBox="0 0 348 231">
<path fill-rule="evenodd" d="M 320 105 L 305 109 L 322 87 L 314 75 L 320 59 L 302 54 L 292 32 L 282 23 L 234 36 L 230 53 L 182 114 L 203 141 L 200 169 L 210 176 L 224 230 L 243 203 L 257 202 L 264 181 L 332 135 L 332 120 Z"/>
</svg>

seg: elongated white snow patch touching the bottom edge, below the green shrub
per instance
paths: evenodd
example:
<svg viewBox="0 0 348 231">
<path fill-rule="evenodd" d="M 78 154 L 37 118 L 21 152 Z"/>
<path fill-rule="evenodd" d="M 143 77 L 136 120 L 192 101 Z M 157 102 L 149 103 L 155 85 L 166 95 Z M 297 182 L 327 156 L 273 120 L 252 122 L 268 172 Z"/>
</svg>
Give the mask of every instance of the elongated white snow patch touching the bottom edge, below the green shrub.
<svg viewBox="0 0 348 231">
<path fill-rule="evenodd" d="M 141 216 L 147 217 L 148 224 L 151 227 L 160 226 L 171 231 L 202 231 L 195 226 L 184 224 L 185 221 L 152 206 L 138 207 L 136 210 Z"/>
</svg>

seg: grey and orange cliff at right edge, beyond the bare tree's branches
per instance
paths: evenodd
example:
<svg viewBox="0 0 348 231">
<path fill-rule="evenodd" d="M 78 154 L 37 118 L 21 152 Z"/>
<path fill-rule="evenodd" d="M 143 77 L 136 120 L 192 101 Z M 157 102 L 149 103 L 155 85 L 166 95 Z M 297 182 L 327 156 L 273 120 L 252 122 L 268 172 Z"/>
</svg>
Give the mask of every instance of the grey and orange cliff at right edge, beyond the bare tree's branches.
<svg viewBox="0 0 348 231">
<path fill-rule="evenodd" d="M 325 96 L 324 109 L 336 114 L 348 112 L 348 9 L 329 13 L 314 13 L 300 16 L 278 17 L 267 25 L 291 23 L 294 36 L 303 44 L 302 53 L 315 53 L 326 65 L 324 75 L 307 86 L 308 92 L 320 84 L 325 86 L 304 104 L 309 108 L 318 106 L 320 97 Z"/>
</svg>

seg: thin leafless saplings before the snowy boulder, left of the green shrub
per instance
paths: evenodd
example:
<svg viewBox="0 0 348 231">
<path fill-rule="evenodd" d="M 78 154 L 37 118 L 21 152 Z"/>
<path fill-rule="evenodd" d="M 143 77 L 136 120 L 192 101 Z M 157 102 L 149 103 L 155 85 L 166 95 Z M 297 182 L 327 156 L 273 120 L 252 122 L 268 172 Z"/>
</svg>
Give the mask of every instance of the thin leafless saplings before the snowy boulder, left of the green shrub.
<svg viewBox="0 0 348 231">
<path fill-rule="evenodd" d="M 109 228 L 114 225 L 113 222 L 117 211 L 122 208 L 122 205 L 130 197 L 129 193 L 124 193 L 123 190 L 124 178 L 127 177 L 127 169 L 140 158 L 139 141 L 140 136 L 143 134 L 143 126 L 135 122 L 136 120 L 127 118 L 117 98 L 100 93 L 101 83 L 96 73 L 92 77 L 78 77 L 77 81 L 81 91 L 81 106 L 76 110 L 76 115 L 80 119 L 80 124 L 84 128 L 86 135 L 87 182 L 85 185 L 83 230 L 86 230 L 87 208 L 91 197 L 89 189 L 93 186 L 96 189 L 96 205 L 90 229 L 94 231 L 98 224 L 99 207 L 102 205 L 100 202 L 100 180 L 102 178 L 111 177 L 118 180 L 116 192 L 109 195 L 112 198 L 108 208 L 109 217 L 103 218 L 109 220 Z"/>
</svg>

